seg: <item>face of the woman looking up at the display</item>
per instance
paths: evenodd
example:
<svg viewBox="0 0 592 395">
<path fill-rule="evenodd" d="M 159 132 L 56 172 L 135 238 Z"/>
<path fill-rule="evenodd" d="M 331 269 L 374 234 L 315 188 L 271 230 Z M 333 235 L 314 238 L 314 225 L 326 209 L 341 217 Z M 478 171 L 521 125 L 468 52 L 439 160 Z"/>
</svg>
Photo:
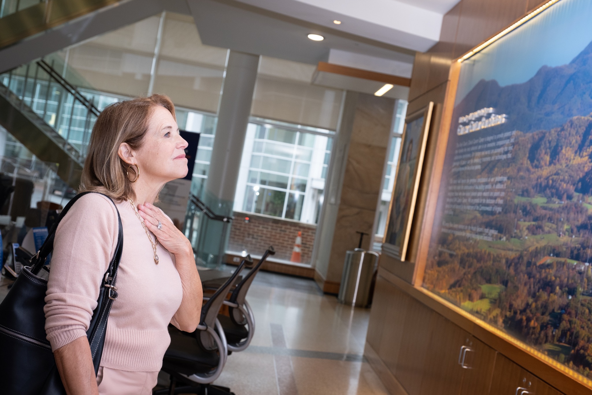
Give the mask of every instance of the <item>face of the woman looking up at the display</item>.
<svg viewBox="0 0 592 395">
<path fill-rule="evenodd" d="M 179 134 L 179 127 L 169 110 L 156 106 L 150 116 L 143 144 L 136 151 L 140 178 L 168 182 L 186 176 L 186 147 L 187 142 Z"/>
</svg>

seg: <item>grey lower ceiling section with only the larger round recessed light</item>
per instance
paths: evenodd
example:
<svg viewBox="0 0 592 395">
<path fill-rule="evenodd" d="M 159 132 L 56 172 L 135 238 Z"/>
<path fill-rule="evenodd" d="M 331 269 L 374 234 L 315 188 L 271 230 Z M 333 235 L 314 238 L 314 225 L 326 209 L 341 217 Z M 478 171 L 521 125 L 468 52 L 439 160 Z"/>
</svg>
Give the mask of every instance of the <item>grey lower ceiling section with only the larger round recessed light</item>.
<svg viewBox="0 0 592 395">
<path fill-rule="evenodd" d="M 391 1 L 391 0 L 385 0 Z M 202 43 L 241 52 L 317 65 L 331 49 L 413 63 L 414 52 L 354 36 L 294 17 L 252 7 L 244 2 L 188 0 Z M 307 38 L 321 34 L 323 41 Z"/>
</svg>

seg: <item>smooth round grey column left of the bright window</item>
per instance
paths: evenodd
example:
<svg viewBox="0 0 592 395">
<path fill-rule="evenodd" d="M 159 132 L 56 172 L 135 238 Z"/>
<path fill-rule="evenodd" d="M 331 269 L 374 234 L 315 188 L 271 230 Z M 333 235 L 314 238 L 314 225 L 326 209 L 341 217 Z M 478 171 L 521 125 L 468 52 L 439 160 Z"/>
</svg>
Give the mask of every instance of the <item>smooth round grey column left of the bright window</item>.
<svg viewBox="0 0 592 395">
<path fill-rule="evenodd" d="M 220 99 L 204 201 L 214 213 L 231 216 L 240 159 L 251 112 L 259 55 L 230 51 Z M 204 219 L 200 224 L 198 258 L 218 265 L 226 250 L 230 224 Z"/>
</svg>

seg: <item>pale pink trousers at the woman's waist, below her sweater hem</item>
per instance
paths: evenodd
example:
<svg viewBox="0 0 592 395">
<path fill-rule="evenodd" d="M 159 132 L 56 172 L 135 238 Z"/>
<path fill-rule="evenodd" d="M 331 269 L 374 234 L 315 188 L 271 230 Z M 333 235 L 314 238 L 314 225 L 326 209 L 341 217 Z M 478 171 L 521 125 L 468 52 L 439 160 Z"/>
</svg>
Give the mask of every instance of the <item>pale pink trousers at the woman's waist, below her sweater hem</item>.
<svg viewBox="0 0 592 395">
<path fill-rule="evenodd" d="M 150 395 L 158 372 L 130 372 L 99 367 L 96 384 L 99 395 Z"/>
</svg>

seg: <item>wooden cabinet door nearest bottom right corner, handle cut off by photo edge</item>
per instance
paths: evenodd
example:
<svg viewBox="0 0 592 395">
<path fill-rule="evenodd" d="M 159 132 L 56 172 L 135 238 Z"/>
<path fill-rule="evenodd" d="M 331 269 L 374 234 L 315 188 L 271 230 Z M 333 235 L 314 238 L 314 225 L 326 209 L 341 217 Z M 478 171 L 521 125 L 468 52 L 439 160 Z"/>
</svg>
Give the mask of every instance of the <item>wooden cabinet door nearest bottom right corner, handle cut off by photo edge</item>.
<svg viewBox="0 0 592 395">
<path fill-rule="evenodd" d="M 501 354 L 497 355 L 490 395 L 562 395 Z"/>
</svg>

